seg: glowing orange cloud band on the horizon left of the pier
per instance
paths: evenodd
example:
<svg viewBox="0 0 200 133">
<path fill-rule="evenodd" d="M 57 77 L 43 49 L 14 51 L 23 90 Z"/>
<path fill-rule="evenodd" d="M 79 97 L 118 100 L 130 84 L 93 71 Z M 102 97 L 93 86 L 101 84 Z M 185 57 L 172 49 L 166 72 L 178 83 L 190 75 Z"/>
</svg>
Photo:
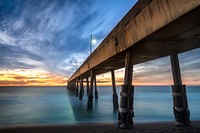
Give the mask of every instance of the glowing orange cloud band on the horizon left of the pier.
<svg viewBox="0 0 200 133">
<path fill-rule="evenodd" d="M 0 86 L 64 86 L 67 78 L 45 70 L 1 69 Z"/>
</svg>

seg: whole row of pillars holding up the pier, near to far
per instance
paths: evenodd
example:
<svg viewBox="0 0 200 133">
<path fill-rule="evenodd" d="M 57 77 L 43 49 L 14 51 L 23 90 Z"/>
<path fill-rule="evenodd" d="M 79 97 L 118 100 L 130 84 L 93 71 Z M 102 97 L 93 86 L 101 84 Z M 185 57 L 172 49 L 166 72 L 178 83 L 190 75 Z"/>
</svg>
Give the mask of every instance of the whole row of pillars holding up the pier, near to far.
<svg viewBox="0 0 200 133">
<path fill-rule="evenodd" d="M 134 86 L 132 86 L 133 77 L 133 51 L 127 51 L 125 57 L 125 74 L 124 74 L 124 84 L 121 85 L 120 89 L 120 104 L 118 105 L 118 96 L 116 92 L 115 84 L 115 73 L 111 70 L 112 77 L 112 88 L 113 88 L 113 108 L 118 110 L 118 127 L 122 129 L 132 128 L 134 126 Z M 174 85 L 172 85 L 172 97 L 173 97 L 173 111 L 175 116 L 175 124 L 178 126 L 189 126 L 190 121 L 190 111 L 188 108 L 186 86 L 182 85 L 181 71 L 179 66 L 178 53 L 170 54 L 172 75 Z M 79 88 L 80 81 L 80 91 Z M 95 99 L 98 99 L 97 83 L 96 83 L 95 70 L 90 71 L 90 82 L 88 77 L 86 78 L 87 86 L 87 96 L 88 104 L 87 109 L 93 108 L 93 88 L 95 88 Z M 74 88 L 75 95 L 79 99 L 83 98 L 84 86 L 83 86 L 83 76 L 80 79 L 76 79 L 75 83 L 68 84 Z M 69 87 L 68 87 L 69 88 Z"/>
</svg>

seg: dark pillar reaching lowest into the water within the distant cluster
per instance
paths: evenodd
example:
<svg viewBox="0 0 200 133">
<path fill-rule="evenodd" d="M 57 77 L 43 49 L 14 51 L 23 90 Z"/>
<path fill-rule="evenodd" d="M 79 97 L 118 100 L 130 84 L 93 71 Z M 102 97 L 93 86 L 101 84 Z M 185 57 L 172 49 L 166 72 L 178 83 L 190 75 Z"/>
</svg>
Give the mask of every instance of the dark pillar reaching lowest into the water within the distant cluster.
<svg viewBox="0 0 200 133">
<path fill-rule="evenodd" d="M 94 81 L 94 70 L 91 70 L 90 72 L 90 90 L 89 90 L 89 96 L 88 96 L 88 105 L 87 109 L 91 110 L 93 107 L 93 81 Z"/>
</svg>

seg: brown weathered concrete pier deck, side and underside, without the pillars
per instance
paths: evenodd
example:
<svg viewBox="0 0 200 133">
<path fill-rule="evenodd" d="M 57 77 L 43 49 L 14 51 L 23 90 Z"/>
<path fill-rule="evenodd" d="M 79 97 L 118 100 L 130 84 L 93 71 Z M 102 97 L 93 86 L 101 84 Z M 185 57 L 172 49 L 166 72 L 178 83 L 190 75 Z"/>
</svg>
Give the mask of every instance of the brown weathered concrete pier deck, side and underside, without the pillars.
<svg viewBox="0 0 200 133">
<path fill-rule="evenodd" d="M 124 67 L 125 51 L 133 64 L 200 47 L 200 0 L 139 0 L 68 83 Z"/>
</svg>

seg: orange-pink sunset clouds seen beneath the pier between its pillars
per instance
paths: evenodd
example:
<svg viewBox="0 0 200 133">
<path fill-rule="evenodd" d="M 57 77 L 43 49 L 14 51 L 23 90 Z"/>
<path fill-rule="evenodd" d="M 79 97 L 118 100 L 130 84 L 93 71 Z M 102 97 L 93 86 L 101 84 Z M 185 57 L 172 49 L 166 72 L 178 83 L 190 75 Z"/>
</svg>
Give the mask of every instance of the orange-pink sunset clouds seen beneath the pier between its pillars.
<svg viewBox="0 0 200 133">
<path fill-rule="evenodd" d="M 183 71 L 182 81 L 185 85 L 200 85 L 199 74 L 196 72 L 191 75 L 184 74 Z M 115 71 L 115 81 L 116 85 L 120 86 L 124 84 L 124 68 Z M 134 68 L 132 85 L 135 86 L 163 86 L 163 85 L 173 85 L 173 77 L 170 71 L 168 72 L 156 72 L 153 71 L 150 74 L 142 72 L 139 68 Z M 110 86 L 111 82 L 111 73 L 105 73 L 97 76 L 97 85 L 99 86 Z"/>
</svg>

